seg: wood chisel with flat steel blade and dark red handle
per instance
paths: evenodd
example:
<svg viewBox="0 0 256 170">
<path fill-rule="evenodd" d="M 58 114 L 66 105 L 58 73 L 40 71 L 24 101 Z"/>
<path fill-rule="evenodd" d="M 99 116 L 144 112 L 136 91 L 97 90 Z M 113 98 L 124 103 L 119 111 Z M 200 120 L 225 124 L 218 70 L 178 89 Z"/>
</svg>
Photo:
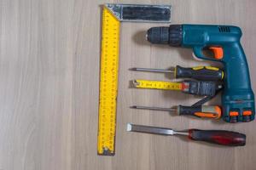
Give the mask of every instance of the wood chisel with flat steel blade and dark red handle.
<svg viewBox="0 0 256 170">
<path fill-rule="evenodd" d="M 246 144 L 245 134 L 224 130 L 189 129 L 186 131 L 174 131 L 171 128 L 149 127 L 128 123 L 127 131 L 160 135 L 183 135 L 188 136 L 189 139 L 192 140 L 205 141 L 212 144 L 222 144 L 227 146 L 244 146 Z"/>
</svg>

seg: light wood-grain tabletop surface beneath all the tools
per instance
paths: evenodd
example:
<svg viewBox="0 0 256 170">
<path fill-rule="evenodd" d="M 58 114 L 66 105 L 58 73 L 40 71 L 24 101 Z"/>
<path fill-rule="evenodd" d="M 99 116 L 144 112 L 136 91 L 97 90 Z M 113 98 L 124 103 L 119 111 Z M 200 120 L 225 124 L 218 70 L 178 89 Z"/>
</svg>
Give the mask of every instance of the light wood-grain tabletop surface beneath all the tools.
<svg viewBox="0 0 256 170">
<path fill-rule="evenodd" d="M 129 109 L 130 105 L 189 105 L 197 100 L 177 92 L 129 88 L 129 81 L 135 78 L 170 80 L 129 68 L 211 64 L 195 61 L 190 49 L 146 42 L 145 31 L 160 24 L 122 23 L 116 155 L 96 155 L 102 3 L 106 1 L 0 1 L 0 169 L 255 169 L 255 122 L 229 124 Z M 256 90 L 256 1 L 108 3 L 172 4 L 172 23 L 241 26 L 241 43 Z M 219 104 L 219 98 L 212 104 Z M 247 145 L 227 148 L 127 133 L 127 122 L 234 130 L 247 134 Z"/>
</svg>

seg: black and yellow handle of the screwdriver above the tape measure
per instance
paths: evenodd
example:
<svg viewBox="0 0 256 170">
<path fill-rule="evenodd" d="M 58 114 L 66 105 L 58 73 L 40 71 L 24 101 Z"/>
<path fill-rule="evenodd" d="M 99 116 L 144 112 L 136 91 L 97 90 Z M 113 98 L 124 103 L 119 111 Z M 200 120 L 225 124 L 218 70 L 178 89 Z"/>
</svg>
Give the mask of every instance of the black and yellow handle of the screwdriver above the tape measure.
<svg viewBox="0 0 256 170">
<path fill-rule="evenodd" d="M 185 68 L 177 65 L 175 70 L 175 77 L 193 78 L 202 81 L 220 81 L 224 78 L 224 71 L 212 66 Z"/>
</svg>

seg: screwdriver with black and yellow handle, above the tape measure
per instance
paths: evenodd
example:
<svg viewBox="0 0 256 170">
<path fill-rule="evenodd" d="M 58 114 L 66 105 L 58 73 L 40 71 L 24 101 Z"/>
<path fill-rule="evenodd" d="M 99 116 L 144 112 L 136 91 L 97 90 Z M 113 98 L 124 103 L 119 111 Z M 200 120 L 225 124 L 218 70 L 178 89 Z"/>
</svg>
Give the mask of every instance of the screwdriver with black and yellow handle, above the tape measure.
<svg viewBox="0 0 256 170">
<path fill-rule="evenodd" d="M 161 72 L 172 73 L 175 78 L 193 78 L 203 81 L 220 81 L 224 78 L 224 71 L 217 67 L 212 66 L 197 66 L 185 68 L 180 65 L 172 67 L 169 70 L 164 69 L 149 69 L 149 68 L 131 68 L 131 71 L 148 71 L 148 72 Z"/>
</svg>

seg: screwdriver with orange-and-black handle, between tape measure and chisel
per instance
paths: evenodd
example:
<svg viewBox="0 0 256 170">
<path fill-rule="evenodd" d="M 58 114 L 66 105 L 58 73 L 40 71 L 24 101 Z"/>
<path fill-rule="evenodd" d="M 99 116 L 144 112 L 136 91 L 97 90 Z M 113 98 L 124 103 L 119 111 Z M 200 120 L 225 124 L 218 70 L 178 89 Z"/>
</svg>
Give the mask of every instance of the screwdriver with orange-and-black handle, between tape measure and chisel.
<svg viewBox="0 0 256 170">
<path fill-rule="evenodd" d="M 152 111 L 170 111 L 176 113 L 178 116 L 196 116 L 201 118 L 218 119 L 221 117 L 221 109 L 218 105 L 197 105 L 197 106 L 184 106 L 177 105 L 172 108 L 163 107 L 148 107 L 148 106 L 131 106 L 132 109 L 143 109 Z"/>
</svg>

